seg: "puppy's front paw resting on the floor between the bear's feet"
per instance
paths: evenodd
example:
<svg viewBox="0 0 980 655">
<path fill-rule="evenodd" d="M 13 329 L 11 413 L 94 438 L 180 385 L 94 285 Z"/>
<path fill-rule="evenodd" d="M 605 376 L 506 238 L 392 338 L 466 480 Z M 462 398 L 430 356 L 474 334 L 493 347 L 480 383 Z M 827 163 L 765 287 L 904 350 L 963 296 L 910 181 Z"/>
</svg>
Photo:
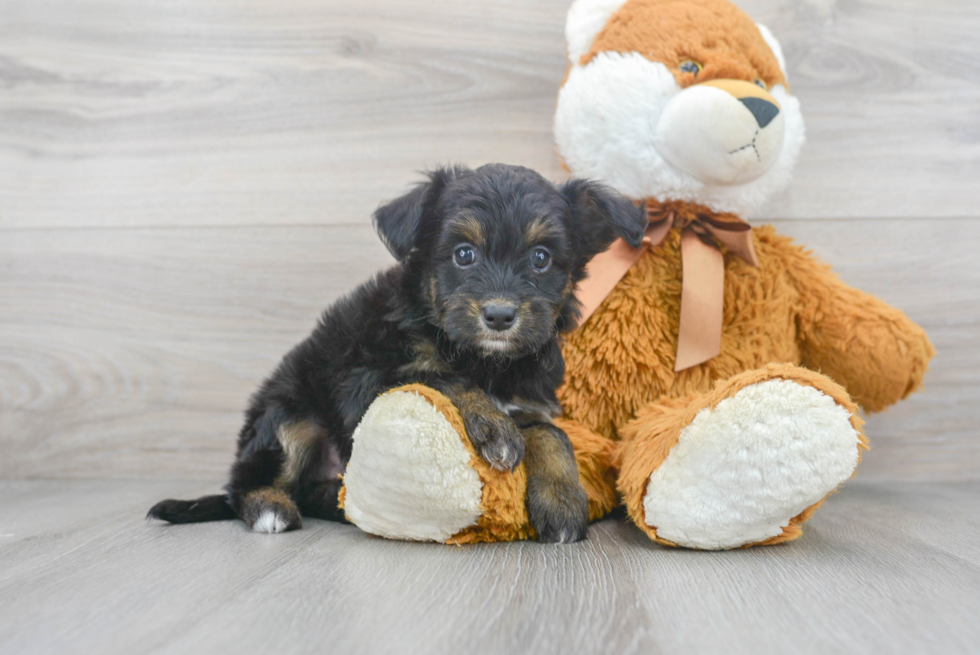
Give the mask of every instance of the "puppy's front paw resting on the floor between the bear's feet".
<svg viewBox="0 0 980 655">
<path fill-rule="evenodd" d="M 538 541 L 570 544 L 589 530 L 589 498 L 576 480 L 536 484 L 529 481 L 527 510 Z"/>
</svg>

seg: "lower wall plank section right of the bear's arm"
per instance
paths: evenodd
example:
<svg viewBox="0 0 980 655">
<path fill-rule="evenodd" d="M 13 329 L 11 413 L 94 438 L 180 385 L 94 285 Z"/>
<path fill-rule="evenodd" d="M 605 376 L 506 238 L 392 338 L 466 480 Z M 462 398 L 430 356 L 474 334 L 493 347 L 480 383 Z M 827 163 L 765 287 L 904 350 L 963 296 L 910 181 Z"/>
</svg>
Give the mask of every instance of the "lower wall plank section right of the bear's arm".
<svg viewBox="0 0 980 655">
<path fill-rule="evenodd" d="M 936 347 L 925 388 L 868 417 L 861 479 L 980 479 L 980 221 L 780 221 L 849 284 L 901 308 Z"/>
</svg>

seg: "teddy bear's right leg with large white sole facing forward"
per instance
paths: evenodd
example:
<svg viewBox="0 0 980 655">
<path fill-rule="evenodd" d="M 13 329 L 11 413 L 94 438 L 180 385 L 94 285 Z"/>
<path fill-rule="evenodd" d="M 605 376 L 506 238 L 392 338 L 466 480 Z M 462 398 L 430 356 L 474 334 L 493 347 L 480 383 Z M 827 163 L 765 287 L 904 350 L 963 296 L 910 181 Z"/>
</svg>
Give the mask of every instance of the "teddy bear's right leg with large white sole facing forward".
<svg viewBox="0 0 980 655">
<path fill-rule="evenodd" d="M 627 511 L 672 546 L 795 539 L 867 447 L 857 411 L 830 378 L 788 364 L 655 403 L 622 431 L 618 484 Z"/>
</svg>

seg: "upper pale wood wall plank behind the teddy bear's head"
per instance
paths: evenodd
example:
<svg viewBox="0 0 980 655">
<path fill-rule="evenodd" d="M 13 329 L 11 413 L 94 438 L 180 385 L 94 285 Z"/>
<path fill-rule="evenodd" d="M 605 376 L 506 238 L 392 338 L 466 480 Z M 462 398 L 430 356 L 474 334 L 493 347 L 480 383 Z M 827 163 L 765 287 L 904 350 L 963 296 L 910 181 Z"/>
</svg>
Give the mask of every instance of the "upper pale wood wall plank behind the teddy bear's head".
<svg viewBox="0 0 980 655">
<path fill-rule="evenodd" d="M 746 0 L 808 121 L 766 217 L 976 215 L 980 4 Z M 438 163 L 562 176 L 568 0 L 0 1 L 0 228 L 353 224 Z"/>
</svg>

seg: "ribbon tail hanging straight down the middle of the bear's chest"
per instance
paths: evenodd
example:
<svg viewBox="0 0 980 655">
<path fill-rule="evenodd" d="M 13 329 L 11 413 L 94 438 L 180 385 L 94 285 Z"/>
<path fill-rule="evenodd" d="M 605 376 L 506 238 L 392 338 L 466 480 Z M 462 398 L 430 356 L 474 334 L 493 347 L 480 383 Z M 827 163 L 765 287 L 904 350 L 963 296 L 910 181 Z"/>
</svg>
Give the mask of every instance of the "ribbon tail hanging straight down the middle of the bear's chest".
<svg viewBox="0 0 980 655">
<path fill-rule="evenodd" d="M 754 254 L 754 253 L 753 253 Z M 674 371 L 702 364 L 721 352 L 725 258 L 692 230 L 681 233 L 681 316 Z"/>
</svg>

